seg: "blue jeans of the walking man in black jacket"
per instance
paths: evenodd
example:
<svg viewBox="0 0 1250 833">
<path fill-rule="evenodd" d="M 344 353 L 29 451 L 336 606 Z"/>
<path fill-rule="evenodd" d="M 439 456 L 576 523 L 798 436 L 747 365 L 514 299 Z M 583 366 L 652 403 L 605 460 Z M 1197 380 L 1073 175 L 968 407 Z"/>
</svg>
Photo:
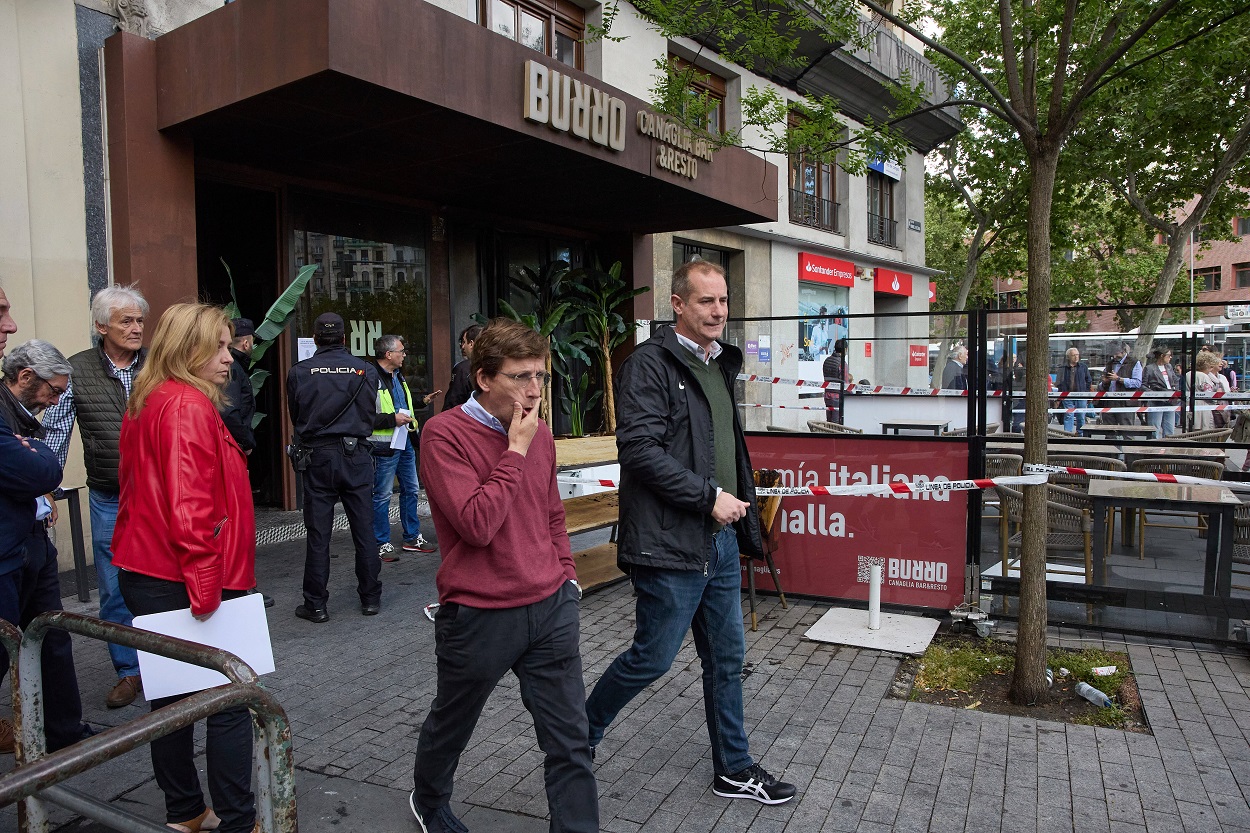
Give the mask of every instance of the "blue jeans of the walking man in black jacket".
<svg viewBox="0 0 1250 833">
<path fill-rule="evenodd" d="M 664 675 L 694 630 L 702 663 L 704 712 L 711 740 L 712 768 L 730 775 L 754 762 L 746 747 L 742 718 L 742 572 L 732 529 L 722 529 L 708 555 L 708 574 L 699 570 L 634 568 L 638 629 L 634 644 L 618 657 L 586 700 L 590 745 L 635 695 Z"/>
</svg>

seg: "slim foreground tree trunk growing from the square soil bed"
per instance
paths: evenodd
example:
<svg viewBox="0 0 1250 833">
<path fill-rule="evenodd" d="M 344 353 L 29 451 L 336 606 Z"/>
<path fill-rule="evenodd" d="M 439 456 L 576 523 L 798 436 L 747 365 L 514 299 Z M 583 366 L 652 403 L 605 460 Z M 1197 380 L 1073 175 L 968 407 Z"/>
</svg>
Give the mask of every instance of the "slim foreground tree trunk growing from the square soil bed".
<svg viewBox="0 0 1250 833">
<path fill-rule="evenodd" d="M 1029 184 L 1029 311 L 1025 361 L 1026 463 L 1046 462 L 1048 356 L 1050 333 L 1050 206 L 1054 199 L 1059 148 L 1042 143 L 1030 154 Z M 1046 687 L 1046 487 L 1024 488 L 1020 550 L 1020 622 L 1016 637 L 1011 700 L 1045 703 Z M 1006 553 L 1002 553 L 1006 558 Z"/>
</svg>

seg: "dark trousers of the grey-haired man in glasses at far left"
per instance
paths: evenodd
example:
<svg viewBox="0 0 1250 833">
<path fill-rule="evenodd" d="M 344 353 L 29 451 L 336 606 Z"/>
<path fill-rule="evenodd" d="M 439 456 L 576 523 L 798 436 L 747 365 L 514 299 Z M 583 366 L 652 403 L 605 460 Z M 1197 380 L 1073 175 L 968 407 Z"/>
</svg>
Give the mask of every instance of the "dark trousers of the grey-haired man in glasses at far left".
<svg viewBox="0 0 1250 833">
<path fill-rule="evenodd" d="M 0 619 L 25 629 L 35 617 L 61 610 L 61 579 L 56 548 L 42 523 L 25 542 L 26 557 L 20 569 L 0 577 Z M 70 634 L 52 628 L 44 634 L 44 737 L 48 750 L 56 752 L 82 739 L 82 700 L 74 672 Z M 9 652 L 0 648 L 0 678 L 9 670 Z"/>
</svg>

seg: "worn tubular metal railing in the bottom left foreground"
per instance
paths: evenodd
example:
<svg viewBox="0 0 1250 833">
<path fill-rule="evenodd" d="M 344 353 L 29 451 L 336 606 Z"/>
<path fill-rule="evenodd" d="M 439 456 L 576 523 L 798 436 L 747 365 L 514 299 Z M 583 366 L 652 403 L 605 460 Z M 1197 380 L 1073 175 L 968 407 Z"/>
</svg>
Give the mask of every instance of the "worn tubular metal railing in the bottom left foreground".
<svg viewBox="0 0 1250 833">
<path fill-rule="evenodd" d="M 11 632 L 18 629 L 4 620 L 0 620 L 0 643 L 9 647 L 14 639 Z M 190 694 L 120 727 L 46 754 L 40 658 L 49 628 L 61 628 L 82 637 L 211 668 L 224 674 L 230 683 Z M 9 650 L 10 668 L 14 679 L 19 680 L 14 687 L 18 767 L 0 777 L 0 807 L 14 800 L 21 802 L 19 823 L 24 833 L 48 833 L 45 800 L 69 800 L 62 792 L 42 799 L 38 797 L 39 790 L 236 705 L 246 705 L 255 714 L 254 732 L 261 735 L 265 744 L 262 754 L 255 757 L 260 829 L 264 833 L 298 833 L 290 723 L 274 695 L 259 687 L 256 673 L 230 652 L 65 610 L 51 610 L 36 617 L 21 635 L 20 652 L 14 652 L 12 648 Z M 12 660 L 14 655 L 19 657 L 16 663 Z M 81 800 L 94 799 L 81 797 Z M 110 818 L 95 820 L 109 823 L 119 812 L 110 808 Z"/>
</svg>

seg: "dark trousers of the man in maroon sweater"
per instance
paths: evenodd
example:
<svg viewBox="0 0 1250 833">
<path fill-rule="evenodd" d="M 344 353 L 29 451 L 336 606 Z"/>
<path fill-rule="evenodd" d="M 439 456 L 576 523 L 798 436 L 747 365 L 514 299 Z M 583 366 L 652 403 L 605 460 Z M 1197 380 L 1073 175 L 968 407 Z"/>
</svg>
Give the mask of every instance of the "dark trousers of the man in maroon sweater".
<svg viewBox="0 0 1250 833">
<path fill-rule="evenodd" d="M 578 647 L 578 590 L 565 582 L 522 608 L 444 604 L 434 624 L 439 690 L 416 744 L 416 800 L 451 800 L 460 754 L 486 698 L 511 669 L 546 754 L 544 779 L 552 833 L 599 830 L 599 794 L 586 739 L 586 689 Z"/>
</svg>

